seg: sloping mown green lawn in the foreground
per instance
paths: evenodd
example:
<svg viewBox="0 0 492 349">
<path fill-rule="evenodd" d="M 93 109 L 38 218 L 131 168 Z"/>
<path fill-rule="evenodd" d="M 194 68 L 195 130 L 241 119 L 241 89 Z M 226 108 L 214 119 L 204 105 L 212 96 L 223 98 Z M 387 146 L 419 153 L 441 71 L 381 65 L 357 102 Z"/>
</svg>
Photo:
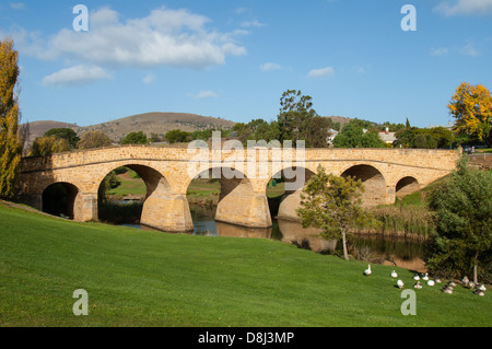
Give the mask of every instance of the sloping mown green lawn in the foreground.
<svg viewBox="0 0 492 349">
<path fill-rule="evenodd" d="M 491 296 L 260 239 L 75 223 L 0 203 L 0 326 L 491 326 Z M 397 269 L 411 288 L 412 272 Z M 72 313 L 89 292 L 89 316 Z M 490 291 L 487 291 L 490 292 Z"/>
</svg>

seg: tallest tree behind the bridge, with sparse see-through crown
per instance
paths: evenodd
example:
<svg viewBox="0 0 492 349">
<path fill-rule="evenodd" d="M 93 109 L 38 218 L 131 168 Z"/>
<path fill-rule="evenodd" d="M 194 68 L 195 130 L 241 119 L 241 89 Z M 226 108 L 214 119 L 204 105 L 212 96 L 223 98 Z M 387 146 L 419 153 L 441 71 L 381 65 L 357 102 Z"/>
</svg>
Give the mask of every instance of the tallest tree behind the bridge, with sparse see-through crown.
<svg viewBox="0 0 492 349">
<path fill-rule="evenodd" d="M 313 108 L 312 97 L 303 95 L 301 91 L 288 90 L 280 98 L 280 114 L 277 117 L 279 125 L 279 140 L 305 140 L 307 123 L 317 116 Z"/>
</svg>

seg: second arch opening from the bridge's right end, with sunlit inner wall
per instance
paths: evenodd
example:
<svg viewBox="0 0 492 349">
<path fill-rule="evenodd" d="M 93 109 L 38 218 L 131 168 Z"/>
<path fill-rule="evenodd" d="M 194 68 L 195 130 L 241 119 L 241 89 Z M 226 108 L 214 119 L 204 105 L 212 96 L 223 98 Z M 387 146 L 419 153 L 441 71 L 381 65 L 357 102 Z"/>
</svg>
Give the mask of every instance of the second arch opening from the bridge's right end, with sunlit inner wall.
<svg viewBox="0 0 492 349">
<path fill-rule="evenodd" d="M 388 202 L 388 190 L 383 173 L 374 165 L 352 165 L 341 173 L 342 177 L 355 177 L 364 184 L 362 203 L 365 207 L 385 205 Z"/>
</svg>

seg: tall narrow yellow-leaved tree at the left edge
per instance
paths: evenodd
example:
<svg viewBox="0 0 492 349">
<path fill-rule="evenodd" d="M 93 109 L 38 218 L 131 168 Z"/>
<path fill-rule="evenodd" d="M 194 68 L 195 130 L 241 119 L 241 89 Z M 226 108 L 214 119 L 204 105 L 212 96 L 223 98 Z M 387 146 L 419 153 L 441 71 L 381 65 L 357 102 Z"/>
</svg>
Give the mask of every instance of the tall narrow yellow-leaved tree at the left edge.
<svg viewBox="0 0 492 349">
<path fill-rule="evenodd" d="M 0 197 L 15 194 L 22 142 L 19 135 L 19 105 L 14 89 L 19 77 L 13 40 L 0 42 Z"/>
</svg>

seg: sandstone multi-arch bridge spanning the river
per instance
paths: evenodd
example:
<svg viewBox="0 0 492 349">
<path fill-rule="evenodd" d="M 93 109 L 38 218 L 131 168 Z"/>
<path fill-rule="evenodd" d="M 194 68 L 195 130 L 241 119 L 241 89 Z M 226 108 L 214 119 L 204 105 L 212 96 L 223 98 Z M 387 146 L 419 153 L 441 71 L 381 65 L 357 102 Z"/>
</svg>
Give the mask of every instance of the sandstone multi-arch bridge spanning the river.
<svg viewBox="0 0 492 349">
<path fill-rule="evenodd" d="M 163 231 L 194 229 L 186 193 L 200 174 L 221 183 L 215 220 L 271 226 L 267 185 L 282 174 L 286 191 L 279 218 L 296 219 L 300 193 L 318 165 L 338 176 L 355 176 L 365 186 L 366 206 L 395 202 L 453 171 L 460 153 L 454 150 L 409 149 L 231 149 L 210 150 L 129 146 L 25 158 L 21 163 L 17 199 L 39 210 L 46 189 L 62 184 L 67 212 L 75 221 L 97 221 L 97 191 L 113 170 L 127 166 L 147 186 L 141 223 Z"/>
</svg>

